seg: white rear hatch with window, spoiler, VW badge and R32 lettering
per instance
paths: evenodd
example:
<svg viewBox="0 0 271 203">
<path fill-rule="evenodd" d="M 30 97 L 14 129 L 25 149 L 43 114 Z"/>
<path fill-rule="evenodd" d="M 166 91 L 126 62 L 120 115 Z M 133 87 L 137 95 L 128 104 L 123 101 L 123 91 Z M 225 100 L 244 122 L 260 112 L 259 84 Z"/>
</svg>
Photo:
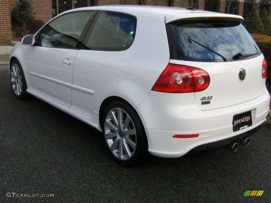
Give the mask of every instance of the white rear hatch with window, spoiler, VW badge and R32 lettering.
<svg viewBox="0 0 271 203">
<path fill-rule="evenodd" d="M 197 67 L 210 76 L 195 93 L 201 110 L 246 102 L 263 92 L 263 55 L 235 15 L 193 13 L 166 17 L 170 63 Z"/>
</svg>

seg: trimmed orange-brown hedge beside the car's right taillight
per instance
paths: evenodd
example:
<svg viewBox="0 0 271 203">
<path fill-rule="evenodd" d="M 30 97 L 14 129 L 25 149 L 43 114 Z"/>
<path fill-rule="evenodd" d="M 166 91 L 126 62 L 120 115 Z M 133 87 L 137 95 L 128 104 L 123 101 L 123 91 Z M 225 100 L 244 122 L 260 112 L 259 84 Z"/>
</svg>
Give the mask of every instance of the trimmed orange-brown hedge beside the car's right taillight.
<svg viewBox="0 0 271 203">
<path fill-rule="evenodd" d="M 268 80 L 271 81 L 271 37 L 267 35 L 251 34 L 256 43 L 259 45 L 268 65 Z"/>
</svg>

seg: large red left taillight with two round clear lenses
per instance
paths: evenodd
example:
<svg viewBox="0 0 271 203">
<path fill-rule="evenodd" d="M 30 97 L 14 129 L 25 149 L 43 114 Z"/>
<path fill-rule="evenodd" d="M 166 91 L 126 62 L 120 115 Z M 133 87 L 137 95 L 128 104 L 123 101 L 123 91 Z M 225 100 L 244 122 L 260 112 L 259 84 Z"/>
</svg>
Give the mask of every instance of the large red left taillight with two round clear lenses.
<svg viewBox="0 0 271 203">
<path fill-rule="evenodd" d="M 189 93 L 207 89 L 209 74 L 199 68 L 168 64 L 152 90 L 166 93 Z"/>
</svg>

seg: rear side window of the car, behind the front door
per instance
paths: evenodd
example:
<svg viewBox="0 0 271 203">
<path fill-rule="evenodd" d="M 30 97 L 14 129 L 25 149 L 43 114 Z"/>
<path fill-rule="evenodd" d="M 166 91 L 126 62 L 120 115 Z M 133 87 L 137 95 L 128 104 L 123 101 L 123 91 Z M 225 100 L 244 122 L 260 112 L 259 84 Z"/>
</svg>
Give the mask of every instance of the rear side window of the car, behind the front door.
<svg viewBox="0 0 271 203">
<path fill-rule="evenodd" d="M 136 18 L 132 15 L 100 11 L 88 30 L 83 45 L 92 50 L 122 51 L 134 41 Z"/>
</svg>

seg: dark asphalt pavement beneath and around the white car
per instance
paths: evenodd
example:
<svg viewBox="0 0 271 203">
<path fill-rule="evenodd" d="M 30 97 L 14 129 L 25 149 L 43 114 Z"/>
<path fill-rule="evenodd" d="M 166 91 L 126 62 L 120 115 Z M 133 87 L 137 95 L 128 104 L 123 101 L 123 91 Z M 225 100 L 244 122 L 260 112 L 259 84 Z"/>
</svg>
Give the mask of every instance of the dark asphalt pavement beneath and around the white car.
<svg viewBox="0 0 271 203">
<path fill-rule="evenodd" d="M 0 203 L 271 202 L 270 125 L 235 153 L 148 155 L 125 168 L 111 159 L 99 131 L 34 97 L 15 99 L 5 65 L 0 126 Z M 247 190 L 264 192 L 244 197 Z"/>
</svg>

